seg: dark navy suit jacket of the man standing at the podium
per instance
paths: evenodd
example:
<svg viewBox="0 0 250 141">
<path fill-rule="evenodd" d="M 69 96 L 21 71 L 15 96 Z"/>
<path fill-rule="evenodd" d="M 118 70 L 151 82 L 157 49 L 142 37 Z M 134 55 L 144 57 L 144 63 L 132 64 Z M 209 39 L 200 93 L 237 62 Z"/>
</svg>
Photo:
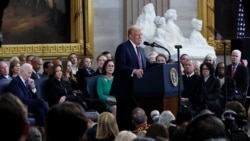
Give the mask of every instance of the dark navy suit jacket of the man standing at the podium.
<svg viewBox="0 0 250 141">
<path fill-rule="evenodd" d="M 142 47 L 139 48 L 143 69 L 147 67 L 148 59 Z M 133 93 L 133 69 L 139 69 L 137 54 L 132 43 L 128 40 L 120 44 L 115 53 L 115 73 L 111 88 L 111 95 L 128 97 Z"/>
</svg>

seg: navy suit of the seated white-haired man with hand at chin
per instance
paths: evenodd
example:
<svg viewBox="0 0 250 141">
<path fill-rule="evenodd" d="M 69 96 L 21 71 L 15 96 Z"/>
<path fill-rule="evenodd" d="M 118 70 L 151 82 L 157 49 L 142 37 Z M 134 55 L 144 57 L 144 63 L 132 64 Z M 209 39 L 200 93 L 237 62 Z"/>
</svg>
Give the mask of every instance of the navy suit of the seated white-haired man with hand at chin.
<svg viewBox="0 0 250 141">
<path fill-rule="evenodd" d="M 30 87 L 25 86 L 20 76 L 11 80 L 8 90 L 28 106 L 28 112 L 35 115 L 38 126 L 45 126 L 48 105 L 43 99 L 38 98 Z"/>
</svg>

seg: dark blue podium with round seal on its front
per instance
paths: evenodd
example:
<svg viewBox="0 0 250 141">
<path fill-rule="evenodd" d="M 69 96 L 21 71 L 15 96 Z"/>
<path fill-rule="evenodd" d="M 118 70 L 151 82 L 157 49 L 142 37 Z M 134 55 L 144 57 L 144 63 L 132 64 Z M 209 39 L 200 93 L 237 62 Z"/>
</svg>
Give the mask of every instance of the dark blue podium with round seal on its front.
<svg viewBox="0 0 250 141">
<path fill-rule="evenodd" d="M 146 70 L 142 78 L 134 78 L 135 98 L 147 113 L 152 110 L 170 110 L 176 115 L 179 107 L 178 90 L 183 90 L 182 75 L 178 77 L 178 65 L 159 64 Z"/>
</svg>

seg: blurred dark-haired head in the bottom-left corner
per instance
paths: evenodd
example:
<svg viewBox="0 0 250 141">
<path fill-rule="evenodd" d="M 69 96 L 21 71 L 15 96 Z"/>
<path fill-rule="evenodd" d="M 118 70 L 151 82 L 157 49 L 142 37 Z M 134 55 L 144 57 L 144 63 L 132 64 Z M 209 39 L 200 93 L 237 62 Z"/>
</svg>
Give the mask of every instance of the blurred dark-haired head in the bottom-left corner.
<svg viewBox="0 0 250 141">
<path fill-rule="evenodd" d="M 27 108 L 11 93 L 0 96 L 1 140 L 25 141 L 29 133 Z"/>
</svg>

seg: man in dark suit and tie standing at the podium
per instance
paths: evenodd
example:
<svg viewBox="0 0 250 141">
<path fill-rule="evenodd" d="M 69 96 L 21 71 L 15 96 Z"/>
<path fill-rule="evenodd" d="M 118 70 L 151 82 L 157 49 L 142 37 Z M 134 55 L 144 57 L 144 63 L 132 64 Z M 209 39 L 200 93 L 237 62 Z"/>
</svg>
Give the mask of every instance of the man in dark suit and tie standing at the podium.
<svg viewBox="0 0 250 141">
<path fill-rule="evenodd" d="M 128 41 L 121 43 L 115 53 L 115 75 L 111 95 L 117 101 L 117 123 L 119 130 L 132 130 L 131 112 L 137 107 L 133 94 L 133 77 L 141 78 L 146 69 L 147 58 L 142 47 L 142 31 L 138 26 L 128 30 Z"/>
</svg>

